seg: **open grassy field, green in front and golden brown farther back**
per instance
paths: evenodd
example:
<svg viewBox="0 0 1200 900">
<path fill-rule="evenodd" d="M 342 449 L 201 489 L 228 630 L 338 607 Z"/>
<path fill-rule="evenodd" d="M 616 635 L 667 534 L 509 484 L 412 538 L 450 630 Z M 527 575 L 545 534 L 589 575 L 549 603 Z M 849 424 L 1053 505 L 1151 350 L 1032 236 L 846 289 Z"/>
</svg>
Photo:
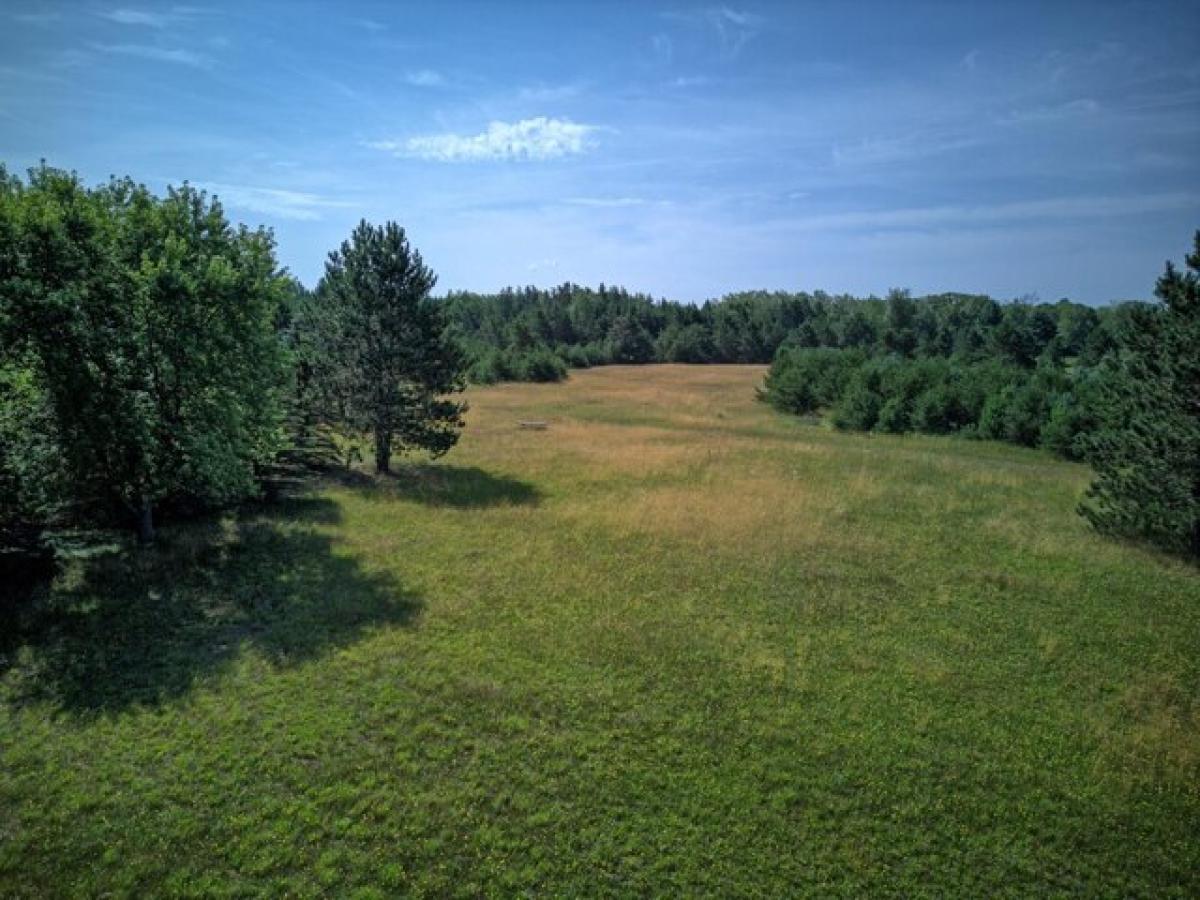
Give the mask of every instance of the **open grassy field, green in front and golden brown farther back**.
<svg viewBox="0 0 1200 900">
<path fill-rule="evenodd" d="M 73 564 L 0 640 L 0 895 L 1200 893 L 1196 570 L 762 373 L 473 390 Z"/>
</svg>

